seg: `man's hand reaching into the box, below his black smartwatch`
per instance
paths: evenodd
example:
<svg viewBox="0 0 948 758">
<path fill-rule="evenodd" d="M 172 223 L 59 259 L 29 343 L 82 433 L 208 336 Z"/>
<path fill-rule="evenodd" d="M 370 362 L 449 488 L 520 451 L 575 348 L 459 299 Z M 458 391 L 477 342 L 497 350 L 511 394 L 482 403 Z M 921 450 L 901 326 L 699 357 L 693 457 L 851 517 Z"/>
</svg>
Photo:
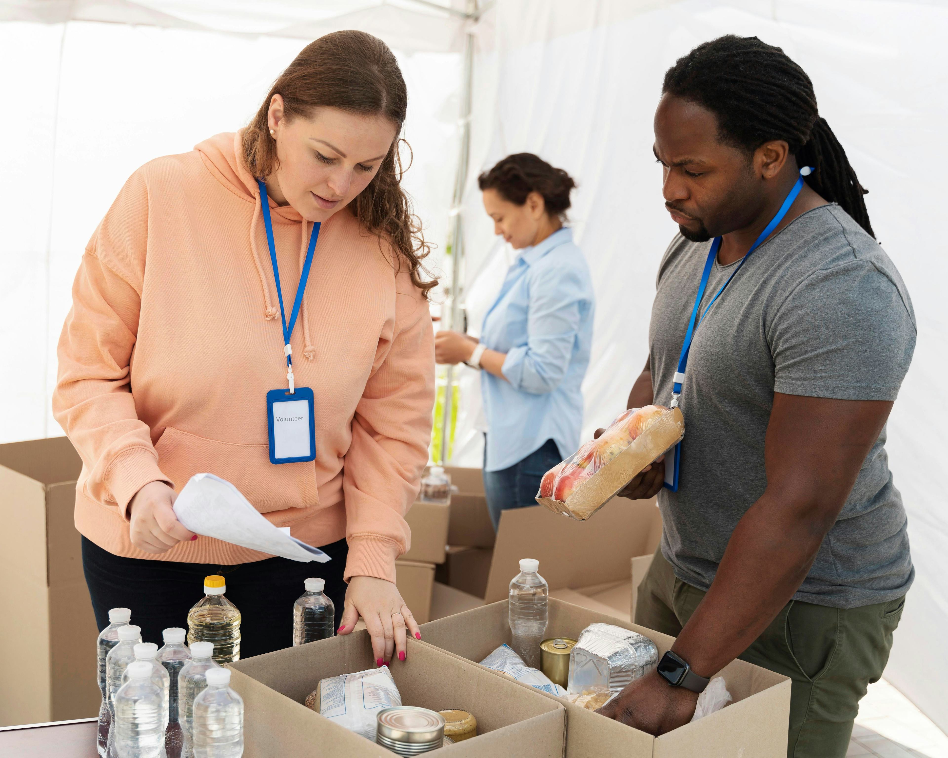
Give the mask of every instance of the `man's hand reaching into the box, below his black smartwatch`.
<svg viewBox="0 0 948 758">
<path fill-rule="evenodd" d="M 653 671 L 630 682 L 596 713 L 657 737 L 687 724 L 695 714 L 697 702 L 697 693 L 671 687 Z"/>
</svg>

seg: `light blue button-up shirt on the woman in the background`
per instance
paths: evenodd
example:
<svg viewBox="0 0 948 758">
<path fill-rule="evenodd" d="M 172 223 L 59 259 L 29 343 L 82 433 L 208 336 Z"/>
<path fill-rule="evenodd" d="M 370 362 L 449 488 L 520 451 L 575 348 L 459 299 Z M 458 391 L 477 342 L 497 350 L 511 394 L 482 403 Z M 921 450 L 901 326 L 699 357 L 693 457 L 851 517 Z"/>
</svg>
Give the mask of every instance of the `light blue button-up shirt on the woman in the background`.
<svg viewBox="0 0 948 758">
<path fill-rule="evenodd" d="M 547 440 L 564 458 L 579 446 L 594 308 L 589 266 L 571 229 L 520 250 L 483 319 L 481 342 L 507 353 L 508 380 L 481 375 L 485 471 L 509 468 Z"/>
</svg>

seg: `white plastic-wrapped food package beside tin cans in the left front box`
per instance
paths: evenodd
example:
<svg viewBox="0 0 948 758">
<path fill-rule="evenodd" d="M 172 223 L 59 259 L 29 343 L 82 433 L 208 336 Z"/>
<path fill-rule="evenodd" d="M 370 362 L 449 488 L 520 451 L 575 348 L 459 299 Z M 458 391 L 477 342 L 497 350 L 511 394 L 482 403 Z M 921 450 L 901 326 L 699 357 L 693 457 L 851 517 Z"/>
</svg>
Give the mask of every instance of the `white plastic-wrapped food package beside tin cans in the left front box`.
<svg viewBox="0 0 948 758">
<path fill-rule="evenodd" d="M 306 705 L 317 713 L 373 742 L 378 712 L 401 704 L 388 666 L 322 679 L 306 698 Z"/>
</svg>

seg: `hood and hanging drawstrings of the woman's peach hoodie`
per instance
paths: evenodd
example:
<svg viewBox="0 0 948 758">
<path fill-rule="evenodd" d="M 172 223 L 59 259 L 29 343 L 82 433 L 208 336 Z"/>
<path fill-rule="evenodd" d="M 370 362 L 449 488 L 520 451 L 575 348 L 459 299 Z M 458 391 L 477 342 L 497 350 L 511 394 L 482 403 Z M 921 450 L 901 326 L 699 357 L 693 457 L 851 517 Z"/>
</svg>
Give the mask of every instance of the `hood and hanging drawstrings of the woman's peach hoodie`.
<svg viewBox="0 0 948 758">
<path fill-rule="evenodd" d="M 204 160 L 204 165 L 217 178 L 221 184 L 227 187 L 238 197 L 245 199 L 253 204 L 253 215 L 250 217 L 250 228 L 248 231 L 250 242 L 250 255 L 253 258 L 254 267 L 260 277 L 260 287 L 264 295 L 264 319 L 280 317 L 280 307 L 274 304 L 274 298 L 271 297 L 270 285 L 266 280 L 264 266 L 260 262 L 260 252 L 257 248 L 258 222 L 261 217 L 260 205 L 260 187 L 257 180 L 247 169 L 244 163 L 244 151 L 242 144 L 243 130 L 235 133 L 224 133 L 214 135 L 210 139 L 205 139 L 194 146 L 194 150 L 200 153 Z M 302 270 L 303 261 L 306 258 L 306 244 L 309 242 L 307 233 L 308 222 L 303 219 L 299 211 L 292 206 L 278 206 L 273 198 L 267 196 L 267 206 L 270 208 L 272 216 L 282 218 L 284 221 L 300 225 L 300 270 Z M 264 245 L 266 243 L 264 242 Z M 302 298 L 302 330 L 305 342 L 303 355 L 307 360 L 313 360 L 314 348 L 309 334 L 309 308 L 306 305 L 306 295 Z M 291 359 L 287 355 L 287 362 Z"/>
</svg>

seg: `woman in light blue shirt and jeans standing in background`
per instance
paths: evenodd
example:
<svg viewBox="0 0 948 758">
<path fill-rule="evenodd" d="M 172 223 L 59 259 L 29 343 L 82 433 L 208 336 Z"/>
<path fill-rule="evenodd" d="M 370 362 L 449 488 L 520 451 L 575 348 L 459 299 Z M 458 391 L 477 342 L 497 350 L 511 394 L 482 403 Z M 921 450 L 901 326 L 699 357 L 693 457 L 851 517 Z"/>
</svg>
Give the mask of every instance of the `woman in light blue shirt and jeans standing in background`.
<svg viewBox="0 0 948 758">
<path fill-rule="evenodd" d="M 563 226 L 575 187 L 566 171 L 518 153 L 478 184 L 495 232 L 518 256 L 481 341 L 439 332 L 435 358 L 483 370 L 483 482 L 497 529 L 501 511 L 537 504 L 540 478 L 579 446 L 594 298 L 586 260 Z"/>
</svg>

